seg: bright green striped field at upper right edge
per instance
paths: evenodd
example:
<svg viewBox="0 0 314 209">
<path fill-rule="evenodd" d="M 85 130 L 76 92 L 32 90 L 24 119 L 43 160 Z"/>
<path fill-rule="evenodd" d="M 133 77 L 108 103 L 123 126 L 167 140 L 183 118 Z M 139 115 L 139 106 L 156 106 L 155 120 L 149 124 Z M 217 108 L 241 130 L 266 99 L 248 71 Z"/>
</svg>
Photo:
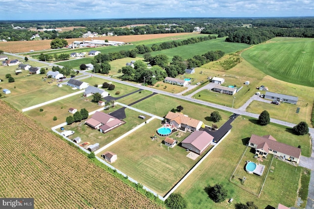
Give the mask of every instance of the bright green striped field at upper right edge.
<svg viewBox="0 0 314 209">
<path fill-rule="evenodd" d="M 289 82 L 314 87 L 314 40 L 274 38 L 241 56 L 266 74 Z"/>
</svg>

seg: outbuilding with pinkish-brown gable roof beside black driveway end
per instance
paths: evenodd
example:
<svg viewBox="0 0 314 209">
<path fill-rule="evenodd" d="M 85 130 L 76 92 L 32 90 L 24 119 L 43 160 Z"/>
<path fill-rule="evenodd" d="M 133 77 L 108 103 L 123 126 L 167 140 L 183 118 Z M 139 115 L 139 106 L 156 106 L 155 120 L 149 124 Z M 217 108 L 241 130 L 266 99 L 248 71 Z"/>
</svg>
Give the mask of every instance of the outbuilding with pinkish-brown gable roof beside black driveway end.
<svg viewBox="0 0 314 209">
<path fill-rule="evenodd" d="M 182 141 L 182 147 L 201 155 L 212 142 L 213 136 L 206 131 L 194 131 Z"/>
</svg>

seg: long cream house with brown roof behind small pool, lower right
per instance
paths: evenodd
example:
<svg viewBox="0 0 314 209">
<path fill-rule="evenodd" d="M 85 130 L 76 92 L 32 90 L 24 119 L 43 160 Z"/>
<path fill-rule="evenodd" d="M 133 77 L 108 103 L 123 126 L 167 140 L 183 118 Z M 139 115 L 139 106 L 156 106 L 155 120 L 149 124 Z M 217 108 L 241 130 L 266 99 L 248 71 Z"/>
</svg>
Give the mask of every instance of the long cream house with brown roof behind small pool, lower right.
<svg viewBox="0 0 314 209">
<path fill-rule="evenodd" d="M 290 162 L 299 163 L 301 149 L 278 142 L 271 135 L 257 136 L 252 134 L 249 140 L 249 147 L 255 149 L 255 154 L 259 158 L 267 158 L 268 154 L 273 154 L 277 158 L 281 158 Z"/>
</svg>

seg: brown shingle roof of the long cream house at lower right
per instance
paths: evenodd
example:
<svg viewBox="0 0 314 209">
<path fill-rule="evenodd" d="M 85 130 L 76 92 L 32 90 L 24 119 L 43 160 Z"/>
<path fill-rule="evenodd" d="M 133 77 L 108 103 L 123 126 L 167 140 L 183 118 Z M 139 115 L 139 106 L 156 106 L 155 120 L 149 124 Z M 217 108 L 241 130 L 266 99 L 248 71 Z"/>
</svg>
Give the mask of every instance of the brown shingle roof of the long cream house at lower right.
<svg viewBox="0 0 314 209">
<path fill-rule="evenodd" d="M 257 149 L 263 148 L 263 150 L 266 152 L 268 152 L 268 148 L 269 148 L 274 151 L 292 156 L 294 158 L 300 158 L 300 155 L 301 155 L 300 148 L 278 142 L 271 135 L 260 137 L 260 136 L 252 134 L 251 139 L 249 140 L 249 143 L 257 144 Z"/>
</svg>

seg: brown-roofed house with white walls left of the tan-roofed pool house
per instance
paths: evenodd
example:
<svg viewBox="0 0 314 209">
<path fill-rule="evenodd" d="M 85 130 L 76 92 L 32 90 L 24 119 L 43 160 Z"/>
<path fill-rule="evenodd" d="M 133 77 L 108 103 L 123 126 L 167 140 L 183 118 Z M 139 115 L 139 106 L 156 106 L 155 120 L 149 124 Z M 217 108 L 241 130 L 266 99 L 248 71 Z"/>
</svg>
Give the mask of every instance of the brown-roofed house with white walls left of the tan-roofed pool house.
<svg viewBox="0 0 314 209">
<path fill-rule="evenodd" d="M 99 129 L 102 133 L 106 133 L 119 125 L 122 125 L 124 122 L 114 116 L 96 111 L 85 123 L 94 129 Z"/>
</svg>

